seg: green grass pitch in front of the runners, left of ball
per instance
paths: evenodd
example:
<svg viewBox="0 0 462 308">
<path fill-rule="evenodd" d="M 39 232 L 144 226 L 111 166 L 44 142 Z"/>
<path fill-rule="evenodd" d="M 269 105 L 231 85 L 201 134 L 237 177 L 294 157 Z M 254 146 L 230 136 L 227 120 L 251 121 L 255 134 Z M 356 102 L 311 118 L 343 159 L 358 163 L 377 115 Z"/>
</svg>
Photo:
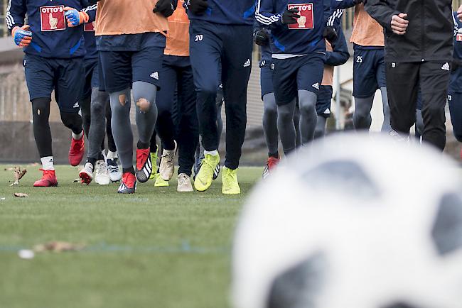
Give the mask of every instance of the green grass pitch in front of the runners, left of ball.
<svg viewBox="0 0 462 308">
<path fill-rule="evenodd" d="M 59 187 L 33 188 L 38 167 L 20 185 L 0 166 L 0 307 L 228 307 L 232 231 L 261 168 L 239 172 L 242 195 L 225 197 L 217 180 L 208 192 L 179 194 L 139 185 L 74 183 L 77 168 L 57 167 Z M 28 198 L 13 197 L 24 192 Z M 77 252 L 18 250 L 49 241 L 84 243 Z"/>
</svg>

